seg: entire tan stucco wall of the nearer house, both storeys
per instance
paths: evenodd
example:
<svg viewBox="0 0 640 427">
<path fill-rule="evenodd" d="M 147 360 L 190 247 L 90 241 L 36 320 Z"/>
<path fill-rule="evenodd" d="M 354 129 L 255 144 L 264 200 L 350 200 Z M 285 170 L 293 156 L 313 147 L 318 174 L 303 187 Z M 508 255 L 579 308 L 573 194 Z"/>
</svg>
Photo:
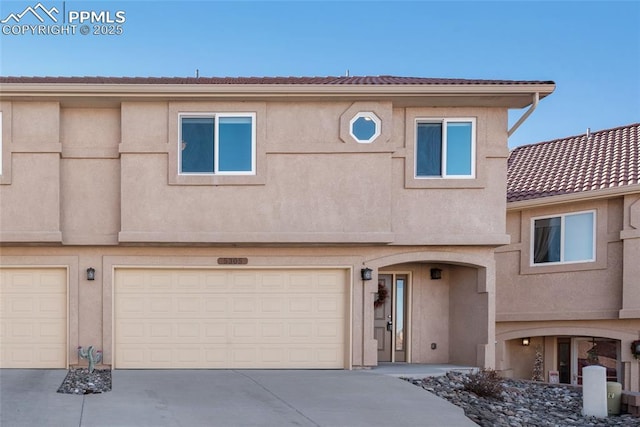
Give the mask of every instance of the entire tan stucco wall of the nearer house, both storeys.
<svg viewBox="0 0 640 427">
<path fill-rule="evenodd" d="M 351 268 L 357 366 L 376 361 L 375 285 L 360 281 L 359 269 L 407 266 L 414 361 L 493 363 L 492 250 L 507 238 L 506 108 L 133 98 L 0 104 L 2 262 L 69 269 L 71 363 L 78 345 L 100 346 L 110 360 L 115 266 L 210 267 L 233 256 Z M 219 111 L 256 114 L 256 174 L 179 175 L 178 114 Z M 349 136 L 359 111 L 381 120 L 371 144 Z M 416 119 L 438 117 L 475 120 L 474 178 L 410 173 Z M 432 265 L 443 269 L 438 283 L 428 279 Z M 88 267 L 95 281 L 86 280 Z"/>
</svg>

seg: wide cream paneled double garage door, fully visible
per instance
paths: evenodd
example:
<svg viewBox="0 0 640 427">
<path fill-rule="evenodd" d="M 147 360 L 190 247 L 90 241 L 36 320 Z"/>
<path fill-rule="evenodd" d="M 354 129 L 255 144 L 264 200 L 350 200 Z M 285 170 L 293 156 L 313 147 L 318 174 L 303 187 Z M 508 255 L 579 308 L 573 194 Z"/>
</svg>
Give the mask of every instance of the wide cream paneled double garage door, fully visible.
<svg viewBox="0 0 640 427">
<path fill-rule="evenodd" d="M 116 368 L 344 368 L 347 271 L 115 274 Z"/>
</svg>

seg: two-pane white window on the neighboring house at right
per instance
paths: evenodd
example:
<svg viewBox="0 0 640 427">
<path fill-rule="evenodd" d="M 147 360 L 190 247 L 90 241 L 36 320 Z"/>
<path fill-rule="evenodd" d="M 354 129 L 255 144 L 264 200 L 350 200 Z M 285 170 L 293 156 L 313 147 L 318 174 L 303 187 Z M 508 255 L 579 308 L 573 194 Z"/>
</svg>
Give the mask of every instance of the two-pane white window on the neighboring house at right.
<svg viewBox="0 0 640 427">
<path fill-rule="evenodd" d="M 533 219 L 532 264 L 595 261 L 595 211 Z"/>
</svg>

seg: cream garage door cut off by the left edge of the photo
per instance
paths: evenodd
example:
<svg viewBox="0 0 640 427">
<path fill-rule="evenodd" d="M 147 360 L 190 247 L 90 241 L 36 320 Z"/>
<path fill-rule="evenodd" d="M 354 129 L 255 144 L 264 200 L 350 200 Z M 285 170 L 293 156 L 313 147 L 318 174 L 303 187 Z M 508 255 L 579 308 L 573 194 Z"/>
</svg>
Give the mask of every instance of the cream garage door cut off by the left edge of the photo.
<svg viewBox="0 0 640 427">
<path fill-rule="evenodd" d="M 65 269 L 0 269 L 0 367 L 66 368 Z"/>
</svg>

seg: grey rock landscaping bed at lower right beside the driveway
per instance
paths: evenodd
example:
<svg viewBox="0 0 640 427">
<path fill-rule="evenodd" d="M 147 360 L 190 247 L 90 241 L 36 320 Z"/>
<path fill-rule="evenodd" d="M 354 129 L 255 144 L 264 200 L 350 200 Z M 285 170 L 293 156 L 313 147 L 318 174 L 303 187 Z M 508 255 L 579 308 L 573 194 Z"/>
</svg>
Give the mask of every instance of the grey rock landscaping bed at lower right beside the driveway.
<svg viewBox="0 0 640 427">
<path fill-rule="evenodd" d="M 501 398 L 484 398 L 464 389 L 465 374 L 405 380 L 461 407 L 469 419 L 485 427 L 640 426 L 640 418 L 628 414 L 582 416 L 578 387 L 504 379 Z"/>
</svg>

